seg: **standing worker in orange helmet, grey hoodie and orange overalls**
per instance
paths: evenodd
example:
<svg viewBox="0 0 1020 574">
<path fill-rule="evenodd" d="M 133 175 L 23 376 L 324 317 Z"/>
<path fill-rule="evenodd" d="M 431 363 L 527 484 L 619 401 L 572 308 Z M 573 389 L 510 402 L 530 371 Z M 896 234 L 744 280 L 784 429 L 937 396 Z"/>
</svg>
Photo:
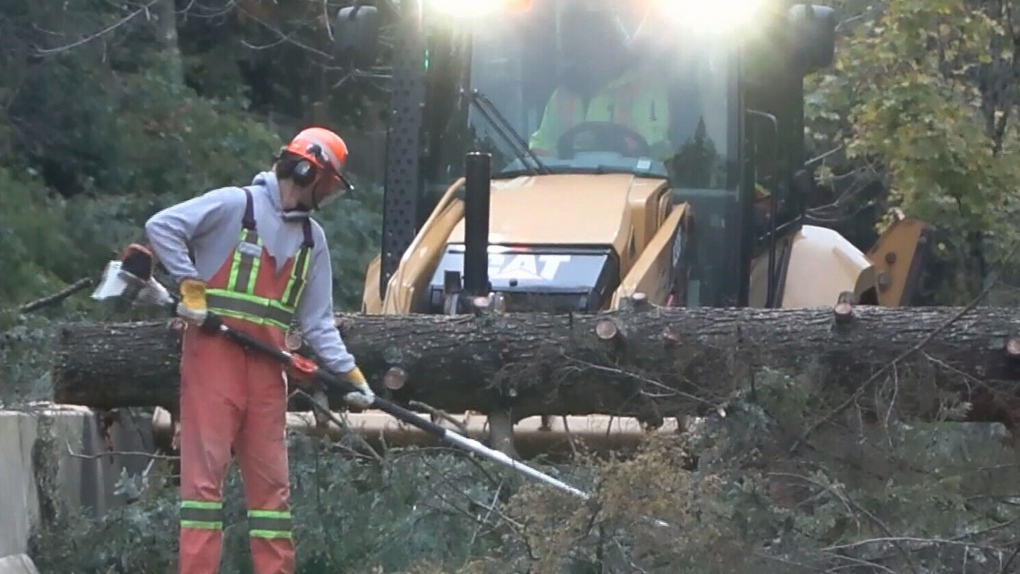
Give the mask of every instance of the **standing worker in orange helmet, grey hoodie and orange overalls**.
<svg viewBox="0 0 1020 574">
<path fill-rule="evenodd" d="M 374 395 L 334 322 L 333 269 L 311 213 L 351 186 L 347 146 L 309 127 L 247 187 L 225 187 L 153 215 L 145 231 L 178 285 L 186 321 L 181 359 L 181 550 L 177 572 L 217 572 L 222 483 L 237 456 L 257 574 L 293 574 L 286 442 L 288 381 L 283 367 L 199 326 L 208 313 L 239 331 L 285 348 L 292 323 L 321 359 L 360 393 Z"/>
</svg>

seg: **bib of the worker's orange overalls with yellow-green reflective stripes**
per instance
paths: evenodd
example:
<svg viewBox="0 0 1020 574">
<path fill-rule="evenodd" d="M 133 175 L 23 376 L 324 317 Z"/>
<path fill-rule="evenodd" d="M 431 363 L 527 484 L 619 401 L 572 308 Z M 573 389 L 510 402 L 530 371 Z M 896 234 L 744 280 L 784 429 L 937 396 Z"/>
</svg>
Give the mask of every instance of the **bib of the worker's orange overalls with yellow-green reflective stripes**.
<svg viewBox="0 0 1020 574">
<path fill-rule="evenodd" d="M 245 195 L 248 204 L 241 221 L 241 238 L 233 258 L 224 262 L 209 281 L 206 304 L 211 313 L 221 317 L 272 326 L 286 332 L 291 327 L 308 276 L 308 262 L 314 247 L 311 221 L 304 220 L 304 243 L 297 257 L 289 259 L 282 269 L 287 271 L 286 267 L 290 267 L 286 275 L 288 280 L 282 284 L 282 276 L 272 269 L 272 258 L 255 229 L 255 209 L 247 188 Z M 260 274 L 263 265 L 266 269 Z"/>
</svg>

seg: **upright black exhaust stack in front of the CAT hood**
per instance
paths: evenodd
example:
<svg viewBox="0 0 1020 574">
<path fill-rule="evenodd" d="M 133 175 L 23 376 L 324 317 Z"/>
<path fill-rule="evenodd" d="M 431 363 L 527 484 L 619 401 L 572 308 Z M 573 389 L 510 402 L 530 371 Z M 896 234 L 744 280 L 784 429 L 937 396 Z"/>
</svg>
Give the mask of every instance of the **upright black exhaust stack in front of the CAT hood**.
<svg viewBox="0 0 1020 574">
<path fill-rule="evenodd" d="M 486 297 L 489 284 L 489 193 L 492 155 L 469 152 L 464 158 L 464 292 Z"/>
</svg>

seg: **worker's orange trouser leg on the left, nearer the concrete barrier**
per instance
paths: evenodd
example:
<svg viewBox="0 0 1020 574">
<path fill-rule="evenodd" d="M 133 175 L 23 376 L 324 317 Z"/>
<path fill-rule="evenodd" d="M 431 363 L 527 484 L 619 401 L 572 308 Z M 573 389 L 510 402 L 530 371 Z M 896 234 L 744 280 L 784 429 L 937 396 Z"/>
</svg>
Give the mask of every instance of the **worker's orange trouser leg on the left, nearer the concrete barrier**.
<svg viewBox="0 0 1020 574">
<path fill-rule="evenodd" d="M 181 361 L 181 560 L 178 574 L 216 574 L 222 485 L 247 397 L 245 356 L 225 337 L 185 335 Z"/>
</svg>

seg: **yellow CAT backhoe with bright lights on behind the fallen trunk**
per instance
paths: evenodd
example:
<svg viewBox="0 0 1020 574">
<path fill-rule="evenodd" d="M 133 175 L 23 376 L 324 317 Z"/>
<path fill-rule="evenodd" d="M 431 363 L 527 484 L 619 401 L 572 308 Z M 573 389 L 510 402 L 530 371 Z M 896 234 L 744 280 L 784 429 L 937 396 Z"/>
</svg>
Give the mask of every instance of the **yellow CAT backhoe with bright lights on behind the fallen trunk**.
<svg viewBox="0 0 1020 574">
<path fill-rule="evenodd" d="M 364 3 L 363 3 L 364 4 Z M 598 312 L 908 303 L 925 226 L 866 255 L 805 224 L 806 74 L 831 8 L 783 0 L 413 0 L 344 8 L 370 66 L 393 22 L 382 246 L 362 311 Z M 465 297 L 466 296 L 466 297 Z"/>
</svg>

